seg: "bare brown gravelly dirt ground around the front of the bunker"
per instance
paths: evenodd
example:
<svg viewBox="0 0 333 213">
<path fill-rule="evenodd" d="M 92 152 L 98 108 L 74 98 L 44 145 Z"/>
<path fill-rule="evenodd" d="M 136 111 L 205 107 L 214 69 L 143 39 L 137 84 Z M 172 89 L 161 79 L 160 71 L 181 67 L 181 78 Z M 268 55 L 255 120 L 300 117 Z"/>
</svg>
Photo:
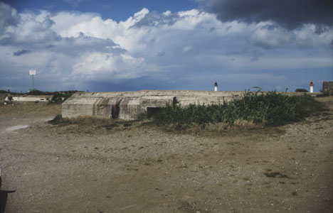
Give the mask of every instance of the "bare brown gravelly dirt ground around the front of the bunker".
<svg viewBox="0 0 333 213">
<path fill-rule="evenodd" d="M 333 97 L 319 100 L 331 111 L 297 124 L 190 133 L 1 105 L 6 212 L 333 212 Z"/>
</svg>

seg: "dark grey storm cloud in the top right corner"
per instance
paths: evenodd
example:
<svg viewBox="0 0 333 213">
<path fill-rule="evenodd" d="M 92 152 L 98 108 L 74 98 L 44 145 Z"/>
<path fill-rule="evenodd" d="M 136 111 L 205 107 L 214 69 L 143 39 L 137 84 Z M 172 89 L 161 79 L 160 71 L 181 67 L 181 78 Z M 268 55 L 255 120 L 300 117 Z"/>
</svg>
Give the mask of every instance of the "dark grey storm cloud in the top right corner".
<svg viewBox="0 0 333 213">
<path fill-rule="evenodd" d="M 319 27 L 333 25 L 332 0 L 199 0 L 203 9 L 216 13 L 221 21 L 258 23 L 274 21 L 287 29 L 305 23 Z"/>
</svg>

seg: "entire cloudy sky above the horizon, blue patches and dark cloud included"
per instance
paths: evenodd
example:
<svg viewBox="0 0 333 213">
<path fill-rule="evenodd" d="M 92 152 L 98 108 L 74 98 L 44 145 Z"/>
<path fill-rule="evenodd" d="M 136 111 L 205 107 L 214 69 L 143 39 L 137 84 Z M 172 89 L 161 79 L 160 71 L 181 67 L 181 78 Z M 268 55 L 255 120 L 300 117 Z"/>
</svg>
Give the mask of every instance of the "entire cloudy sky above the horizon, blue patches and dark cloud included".
<svg viewBox="0 0 333 213">
<path fill-rule="evenodd" d="M 333 81 L 332 0 L 0 1 L 0 89 L 314 92 Z"/>
</svg>

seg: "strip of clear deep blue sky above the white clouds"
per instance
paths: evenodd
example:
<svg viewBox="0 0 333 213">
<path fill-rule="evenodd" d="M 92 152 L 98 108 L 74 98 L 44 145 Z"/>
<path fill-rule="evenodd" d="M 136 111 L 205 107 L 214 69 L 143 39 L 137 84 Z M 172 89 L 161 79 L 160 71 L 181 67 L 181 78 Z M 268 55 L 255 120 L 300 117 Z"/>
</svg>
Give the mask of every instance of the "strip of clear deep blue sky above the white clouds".
<svg viewBox="0 0 333 213">
<path fill-rule="evenodd" d="M 112 18 L 115 21 L 125 21 L 143 8 L 163 13 L 164 11 L 186 11 L 199 6 L 198 2 L 192 0 L 10 0 L 4 2 L 14 6 L 19 12 L 40 9 L 47 9 L 51 12 L 80 11 L 98 13 L 103 19 Z"/>
</svg>

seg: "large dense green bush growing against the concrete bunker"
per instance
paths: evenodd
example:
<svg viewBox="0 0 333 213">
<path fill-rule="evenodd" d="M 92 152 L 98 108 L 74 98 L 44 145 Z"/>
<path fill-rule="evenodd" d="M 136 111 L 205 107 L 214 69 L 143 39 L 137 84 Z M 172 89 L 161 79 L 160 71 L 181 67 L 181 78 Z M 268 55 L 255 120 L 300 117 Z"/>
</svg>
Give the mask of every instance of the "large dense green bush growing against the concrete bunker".
<svg viewBox="0 0 333 213">
<path fill-rule="evenodd" d="M 242 99 L 219 104 L 181 107 L 180 104 L 167 104 L 153 115 L 156 124 L 171 125 L 176 129 L 198 124 L 205 128 L 208 124 L 224 123 L 233 126 L 236 121 L 251 121 L 254 124 L 279 126 L 301 121 L 315 111 L 324 109 L 310 95 L 287 96 L 277 92 L 245 92 Z"/>
</svg>

